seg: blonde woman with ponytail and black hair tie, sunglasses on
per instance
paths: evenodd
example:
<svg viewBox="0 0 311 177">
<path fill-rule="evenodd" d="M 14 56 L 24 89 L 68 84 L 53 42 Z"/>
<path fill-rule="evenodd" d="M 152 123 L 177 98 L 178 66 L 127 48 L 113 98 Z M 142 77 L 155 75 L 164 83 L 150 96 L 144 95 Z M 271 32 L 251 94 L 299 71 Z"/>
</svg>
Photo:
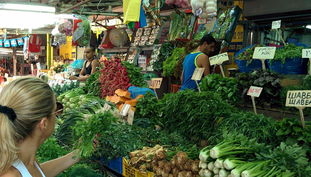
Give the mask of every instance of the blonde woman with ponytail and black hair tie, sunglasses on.
<svg viewBox="0 0 311 177">
<path fill-rule="evenodd" d="M 24 77 L 7 84 L 0 93 L 0 176 L 52 177 L 80 159 L 73 151 L 39 164 L 36 152 L 54 131 L 55 116 L 63 112 L 47 83 Z M 97 140 L 95 143 L 98 143 Z"/>
</svg>

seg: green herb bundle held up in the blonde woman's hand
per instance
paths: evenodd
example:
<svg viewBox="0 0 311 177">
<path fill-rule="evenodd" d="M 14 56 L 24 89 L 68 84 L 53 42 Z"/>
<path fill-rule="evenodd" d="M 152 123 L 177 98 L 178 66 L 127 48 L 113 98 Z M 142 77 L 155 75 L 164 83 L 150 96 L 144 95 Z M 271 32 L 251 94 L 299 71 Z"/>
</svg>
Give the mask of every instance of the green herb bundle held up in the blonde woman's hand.
<svg viewBox="0 0 311 177">
<path fill-rule="evenodd" d="M 72 127 L 75 147 L 79 149 L 77 156 L 80 158 L 91 157 L 95 153 L 94 139 L 98 133 L 104 134 L 112 128 L 112 122 L 117 121 L 109 111 L 93 114 L 87 120 L 78 120 Z"/>
</svg>

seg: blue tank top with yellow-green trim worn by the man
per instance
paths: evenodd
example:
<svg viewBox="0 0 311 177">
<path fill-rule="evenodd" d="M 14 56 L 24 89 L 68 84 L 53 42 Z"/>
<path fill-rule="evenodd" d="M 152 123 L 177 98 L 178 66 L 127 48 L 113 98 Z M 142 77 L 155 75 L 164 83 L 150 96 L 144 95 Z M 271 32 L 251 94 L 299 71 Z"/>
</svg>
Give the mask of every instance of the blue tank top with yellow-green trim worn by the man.
<svg viewBox="0 0 311 177">
<path fill-rule="evenodd" d="M 183 61 L 183 85 L 181 86 L 180 90 L 185 90 L 186 88 L 188 89 L 197 89 L 197 84 L 195 83 L 194 80 L 191 80 L 193 72 L 197 66 L 197 57 L 199 55 L 203 54 L 202 52 L 192 52 L 189 53 L 185 60 Z M 197 83 L 200 83 L 201 80 L 198 80 Z"/>
</svg>

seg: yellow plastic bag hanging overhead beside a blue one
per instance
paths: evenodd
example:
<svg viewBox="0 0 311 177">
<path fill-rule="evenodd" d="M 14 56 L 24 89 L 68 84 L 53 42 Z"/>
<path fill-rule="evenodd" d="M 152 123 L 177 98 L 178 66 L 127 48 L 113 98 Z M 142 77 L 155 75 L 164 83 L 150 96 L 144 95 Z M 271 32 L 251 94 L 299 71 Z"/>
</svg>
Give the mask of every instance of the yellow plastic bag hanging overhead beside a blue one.
<svg viewBox="0 0 311 177">
<path fill-rule="evenodd" d="M 130 21 L 139 21 L 141 0 L 123 0 L 123 23 L 126 25 Z"/>
</svg>

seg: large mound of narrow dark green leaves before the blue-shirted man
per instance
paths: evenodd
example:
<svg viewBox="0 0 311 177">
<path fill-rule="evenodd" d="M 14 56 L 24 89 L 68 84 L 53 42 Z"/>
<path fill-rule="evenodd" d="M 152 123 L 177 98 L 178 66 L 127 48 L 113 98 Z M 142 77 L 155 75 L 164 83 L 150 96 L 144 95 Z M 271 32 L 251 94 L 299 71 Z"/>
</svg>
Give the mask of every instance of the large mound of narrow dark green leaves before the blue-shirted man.
<svg viewBox="0 0 311 177">
<path fill-rule="evenodd" d="M 237 109 L 222 101 L 217 93 L 185 90 L 169 94 L 161 111 L 163 124 L 170 132 L 207 139 L 218 117 L 229 116 Z"/>
</svg>

